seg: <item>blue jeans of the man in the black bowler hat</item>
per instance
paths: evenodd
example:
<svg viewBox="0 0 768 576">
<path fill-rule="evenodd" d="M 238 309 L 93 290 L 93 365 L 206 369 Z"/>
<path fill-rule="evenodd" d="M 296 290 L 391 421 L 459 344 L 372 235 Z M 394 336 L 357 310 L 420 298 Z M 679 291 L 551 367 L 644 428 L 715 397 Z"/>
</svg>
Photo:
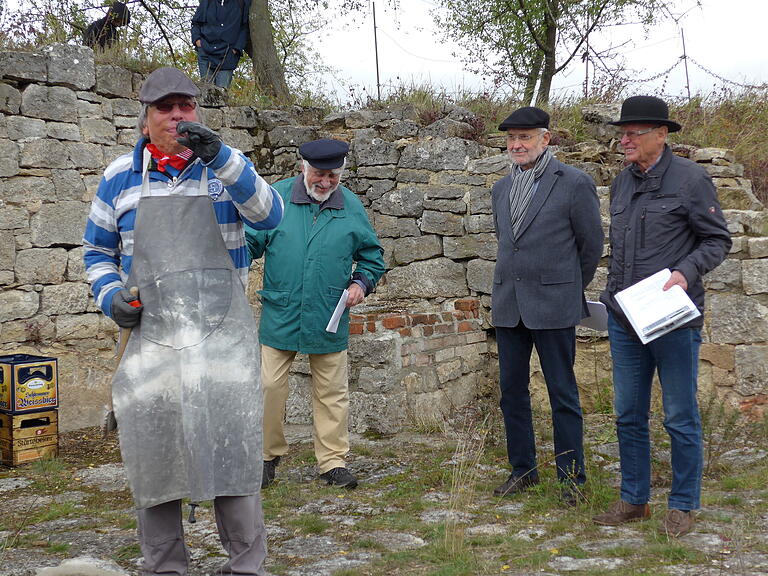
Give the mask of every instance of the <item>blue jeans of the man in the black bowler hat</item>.
<svg viewBox="0 0 768 576">
<path fill-rule="evenodd" d="M 614 410 L 621 458 L 621 499 L 645 504 L 651 493 L 648 420 L 651 384 L 659 373 L 664 428 L 672 444 L 672 488 L 668 506 L 695 510 L 701 496 L 704 461 L 696 401 L 701 330 L 678 328 L 646 345 L 608 316 L 613 358 Z"/>
</svg>

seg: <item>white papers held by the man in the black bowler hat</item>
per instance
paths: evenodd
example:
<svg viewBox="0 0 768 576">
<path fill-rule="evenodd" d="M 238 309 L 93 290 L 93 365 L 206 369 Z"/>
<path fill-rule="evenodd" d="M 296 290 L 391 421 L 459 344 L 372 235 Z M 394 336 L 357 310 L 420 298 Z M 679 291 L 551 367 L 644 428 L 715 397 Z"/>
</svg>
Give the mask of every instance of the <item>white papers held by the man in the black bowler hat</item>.
<svg viewBox="0 0 768 576">
<path fill-rule="evenodd" d="M 675 285 L 662 290 L 671 275 L 669 268 L 665 268 L 616 293 L 616 302 L 643 344 L 701 316 L 682 287 Z"/>
</svg>

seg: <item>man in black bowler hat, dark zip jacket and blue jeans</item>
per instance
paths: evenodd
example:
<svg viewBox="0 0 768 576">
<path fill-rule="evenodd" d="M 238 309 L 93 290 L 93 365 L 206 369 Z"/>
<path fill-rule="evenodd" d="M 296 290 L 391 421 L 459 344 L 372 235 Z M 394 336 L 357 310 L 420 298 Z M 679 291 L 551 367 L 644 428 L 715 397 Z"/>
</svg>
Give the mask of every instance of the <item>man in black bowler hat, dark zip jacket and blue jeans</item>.
<svg viewBox="0 0 768 576">
<path fill-rule="evenodd" d="M 648 418 L 657 372 L 672 446 L 672 488 L 661 529 L 677 537 L 693 527 L 701 494 L 696 377 L 703 319 L 699 316 L 644 345 L 615 295 L 666 268 L 671 274 L 664 290 L 682 287 L 703 313 L 702 277 L 723 261 L 731 239 L 712 179 L 666 144 L 667 134 L 680 130 L 680 124 L 669 119 L 663 100 L 627 98 L 620 119 L 611 124 L 621 130 L 621 146 L 630 163 L 611 186 L 611 257 L 601 296 L 608 308 L 621 499 L 594 521 L 616 526 L 651 515 Z"/>
</svg>

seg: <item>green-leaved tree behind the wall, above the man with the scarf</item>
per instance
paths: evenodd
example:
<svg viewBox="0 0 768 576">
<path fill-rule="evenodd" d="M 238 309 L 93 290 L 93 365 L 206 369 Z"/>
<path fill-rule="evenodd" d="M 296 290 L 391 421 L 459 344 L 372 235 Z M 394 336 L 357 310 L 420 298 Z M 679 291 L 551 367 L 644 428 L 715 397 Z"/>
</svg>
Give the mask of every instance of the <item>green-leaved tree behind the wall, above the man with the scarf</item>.
<svg viewBox="0 0 768 576">
<path fill-rule="evenodd" d="M 589 35 L 631 20 L 645 26 L 664 17 L 669 0 L 440 0 L 434 11 L 447 38 L 467 50 L 465 64 L 490 74 L 522 100 L 549 101 L 552 79 L 574 59 L 590 54 Z"/>
</svg>

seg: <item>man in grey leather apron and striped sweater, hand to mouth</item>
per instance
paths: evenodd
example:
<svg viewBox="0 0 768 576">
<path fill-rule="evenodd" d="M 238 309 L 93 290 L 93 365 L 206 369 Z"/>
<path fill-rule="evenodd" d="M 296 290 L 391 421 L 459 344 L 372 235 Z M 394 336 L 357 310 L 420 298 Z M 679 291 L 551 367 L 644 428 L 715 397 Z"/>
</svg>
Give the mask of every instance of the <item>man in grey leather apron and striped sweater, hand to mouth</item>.
<svg viewBox="0 0 768 576">
<path fill-rule="evenodd" d="M 188 574 L 188 498 L 214 502 L 229 554 L 216 574 L 264 575 L 263 404 L 243 225 L 274 228 L 283 203 L 203 126 L 199 94 L 174 68 L 147 76 L 141 137 L 104 172 L 84 259 L 97 305 L 132 329 L 112 398 L 142 574 Z"/>
</svg>

